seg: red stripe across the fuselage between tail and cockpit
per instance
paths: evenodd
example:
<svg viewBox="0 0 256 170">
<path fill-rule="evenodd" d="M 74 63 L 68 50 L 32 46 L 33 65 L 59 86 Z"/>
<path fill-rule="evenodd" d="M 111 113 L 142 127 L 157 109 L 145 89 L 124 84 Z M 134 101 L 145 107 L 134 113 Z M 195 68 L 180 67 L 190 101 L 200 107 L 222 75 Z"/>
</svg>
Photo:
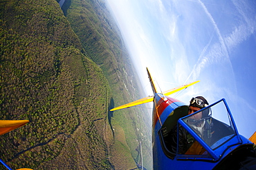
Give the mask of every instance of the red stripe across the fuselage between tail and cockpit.
<svg viewBox="0 0 256 170">
<path fill-rule="evenodd" d="M 164 98 L 161 98 L 158 100 L 158 103 L 156 103 L 155 109 L 154 109 L 154 126 L 156 126 L 157 120 L 160 119 L 161 114 L 166 109 L 168 105 L 171 105 L 172 103 L 179 102 L 179 100 L 176 100 L 175 98 L 170 98 L 165 96 L 167 100 L 163 100 Z M 160 120 L 161 121 L 161 120 Z"/>
</svg>

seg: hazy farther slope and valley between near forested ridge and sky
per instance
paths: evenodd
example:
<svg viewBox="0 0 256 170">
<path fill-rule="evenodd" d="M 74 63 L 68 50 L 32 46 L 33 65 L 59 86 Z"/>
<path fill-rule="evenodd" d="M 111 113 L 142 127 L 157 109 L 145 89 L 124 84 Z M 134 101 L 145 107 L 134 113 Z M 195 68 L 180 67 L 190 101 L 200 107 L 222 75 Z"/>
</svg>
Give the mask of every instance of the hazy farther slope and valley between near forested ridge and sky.
<svg viewBox="0 0 256 170">
<path fill-rule="evenodd" d="M 66 0 L 62 10 L 79 37 L 87 56 L 100 66 L 107 77 L 113 97 L 111 107 L 140 98 L 143 89 L 140 89 L 121 34 L 104 1 Z M 123 109 L 109 115 L 115 139 L 111 147 L 113 167 L 133 169 L 138 158 L 136 149 L 139 142 L 144 140 L 143 155 L 145 164 L 148 164 L 147 168 L 149 168 L 152 144 L 149 142 L 151 125 L 145 127 L 145 122 L 150 122 L 147 111 L 140 108 Z"/>
</svg>

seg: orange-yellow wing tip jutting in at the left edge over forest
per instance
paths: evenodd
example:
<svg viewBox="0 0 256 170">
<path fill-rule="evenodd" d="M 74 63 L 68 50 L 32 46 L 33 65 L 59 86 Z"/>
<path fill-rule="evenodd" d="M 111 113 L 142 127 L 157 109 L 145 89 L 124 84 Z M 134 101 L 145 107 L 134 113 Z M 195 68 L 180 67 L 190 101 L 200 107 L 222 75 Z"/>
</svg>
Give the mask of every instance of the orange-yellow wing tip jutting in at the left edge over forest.
<svg viewBox="0 0 256 170">
<path fill-rule="evenodd" d="M 0 120 L 0 135 L 6 134 L 8 131 L 21 127 L 28 122 L 29 120 Z"/>
</svg>

